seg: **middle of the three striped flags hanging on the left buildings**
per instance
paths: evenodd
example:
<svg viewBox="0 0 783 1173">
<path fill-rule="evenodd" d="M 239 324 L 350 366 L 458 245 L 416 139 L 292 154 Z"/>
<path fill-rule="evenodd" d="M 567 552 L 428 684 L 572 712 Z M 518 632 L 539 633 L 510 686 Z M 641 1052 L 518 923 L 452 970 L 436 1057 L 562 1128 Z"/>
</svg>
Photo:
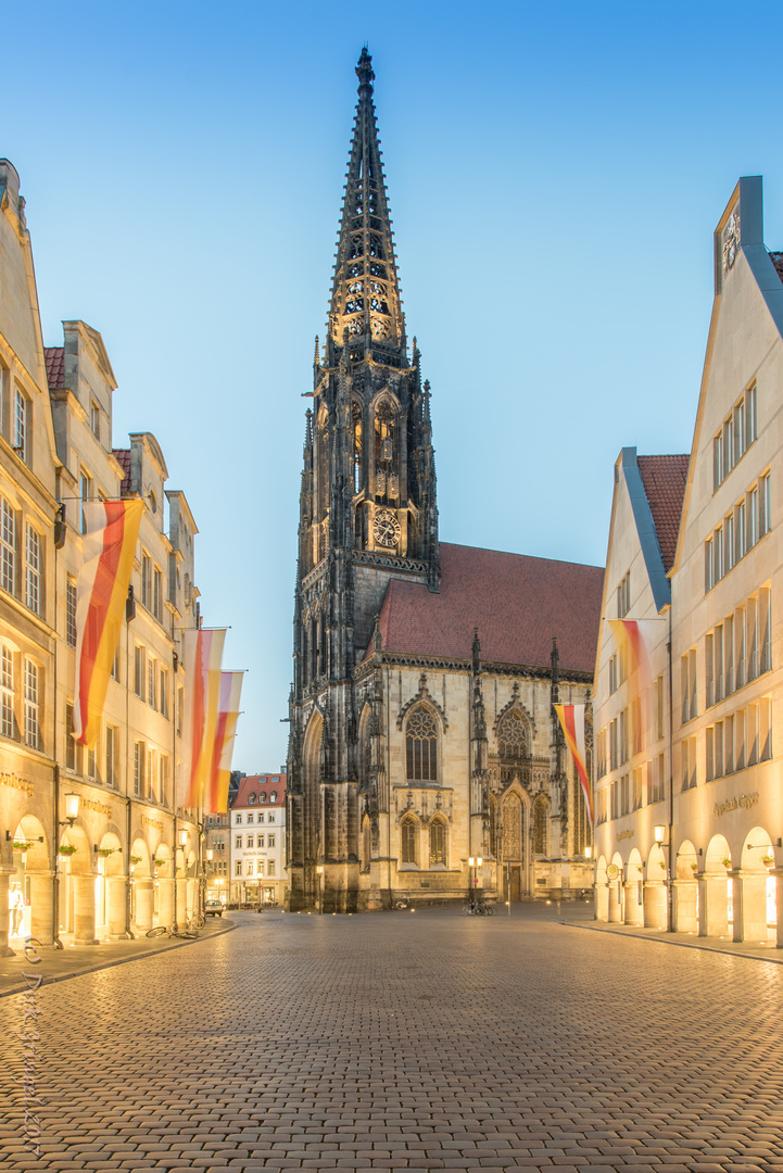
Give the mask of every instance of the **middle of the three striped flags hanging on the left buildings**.
<svg viewBox="0 0 783 1173">
<path fill-rule="evenodd" d="M 225 628 L 199 628 L 183 637 L 185 719 L 183 728 L 184 807 L 200 807 L 212 771 L 220 700 L 220 660 Z"/>
</svg>

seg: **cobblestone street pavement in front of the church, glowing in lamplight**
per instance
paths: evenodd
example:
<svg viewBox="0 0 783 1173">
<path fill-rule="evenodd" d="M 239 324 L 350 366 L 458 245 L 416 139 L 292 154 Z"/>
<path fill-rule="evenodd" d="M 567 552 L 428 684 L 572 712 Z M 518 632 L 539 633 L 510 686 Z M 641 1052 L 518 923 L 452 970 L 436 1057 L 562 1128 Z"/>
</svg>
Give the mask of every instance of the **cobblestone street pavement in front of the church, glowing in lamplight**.
<svg viewBox="0 0 783 1173">
<path fill-rule="evenodd" d="M 783 1171 L 779 965 L 532 913 L 236 920 L 41 986 L 39 1159 L 2 999 L 0 1165 Z"/>
</svg>

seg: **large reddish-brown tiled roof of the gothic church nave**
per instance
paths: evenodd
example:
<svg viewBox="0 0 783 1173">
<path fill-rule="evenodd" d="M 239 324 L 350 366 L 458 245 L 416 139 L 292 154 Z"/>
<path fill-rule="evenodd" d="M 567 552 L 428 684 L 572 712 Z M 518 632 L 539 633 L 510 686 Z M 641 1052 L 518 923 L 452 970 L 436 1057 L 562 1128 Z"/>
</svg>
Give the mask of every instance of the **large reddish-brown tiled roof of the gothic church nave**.
<svg viewBox="0 0 783 1173">
<path fill-rule="evenodd" d="M 392 579 L 381 608 L 384 651 L 590 672 L 601 615 L 602 567 L 441 543 L 441 590 Z M 372 645 L 368 656 L 372 655 Z"/>
</svg>

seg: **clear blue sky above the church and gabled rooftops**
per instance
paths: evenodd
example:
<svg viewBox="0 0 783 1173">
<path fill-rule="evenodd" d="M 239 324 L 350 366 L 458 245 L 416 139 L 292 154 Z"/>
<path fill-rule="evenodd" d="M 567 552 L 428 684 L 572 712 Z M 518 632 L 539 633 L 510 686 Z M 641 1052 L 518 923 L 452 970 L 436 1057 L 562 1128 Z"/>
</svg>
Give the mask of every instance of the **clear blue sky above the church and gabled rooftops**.
<svg viewBox="0 0 783 1173">
<path fill-rule="evenodd" d="M 619 449 L 690 448 L 741 175 L 783 248 L 778 2 L 27 0 L 5 25 L 45 341 L 102 333 L 115 445 L 154 432 L 188 495 L 205 623 L 250 670 L 247 773 L 286 754 L 301 395 L 363 43 L 444 541 L 602 563 Z"/>
</svg>

